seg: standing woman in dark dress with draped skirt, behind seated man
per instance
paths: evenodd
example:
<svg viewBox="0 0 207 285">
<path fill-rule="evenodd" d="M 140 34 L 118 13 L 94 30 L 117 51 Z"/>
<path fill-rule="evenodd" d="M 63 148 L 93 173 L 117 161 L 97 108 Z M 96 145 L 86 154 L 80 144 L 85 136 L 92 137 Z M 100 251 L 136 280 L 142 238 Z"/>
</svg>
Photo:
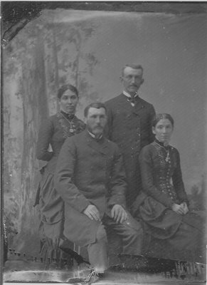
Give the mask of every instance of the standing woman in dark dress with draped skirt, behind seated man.
<svg viewBox="0 0 207 285">
<path fill-rule="evenodd" d="M 41 257 L 46 263 L 60 261 L 63 252 L 64 203 L 54 188 L 54 171 L 58 154 L 66 138 L 85 129 L 85 123 L 75 116 L 78 104 L 78 90 L 68 84 L 58 90 L 60 112 L 52 115 L 41 126 L 38 135 L 36 157 L 47 161 L 41 169 L 41 181 L 38 188 L 36 204 L 41 212 Z M 49 147 L 52 149 L 49 151 Z"/>
</svg>

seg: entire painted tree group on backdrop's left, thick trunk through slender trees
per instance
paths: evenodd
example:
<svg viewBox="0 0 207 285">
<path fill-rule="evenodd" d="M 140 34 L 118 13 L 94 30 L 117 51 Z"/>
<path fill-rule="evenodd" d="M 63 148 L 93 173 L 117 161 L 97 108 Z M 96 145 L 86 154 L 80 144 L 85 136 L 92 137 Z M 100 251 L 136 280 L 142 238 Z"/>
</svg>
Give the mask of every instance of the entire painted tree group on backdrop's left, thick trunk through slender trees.
<svg viewBox="0 0 207 285">
<path fill-rule="evenodd" d="M 5 48 L 5 216 L 9 247 L 17 251 L 39 250 L 38 210 L 33 208 L 39 180 L 36 142 L 41 123 L 58 109 L 58 86 L 72 81 L 80 107 L 97 100 L 91 79 L 98 61 L 88 43 L 96 28 L 91 21 L 33 21 Z"/>
</svg>

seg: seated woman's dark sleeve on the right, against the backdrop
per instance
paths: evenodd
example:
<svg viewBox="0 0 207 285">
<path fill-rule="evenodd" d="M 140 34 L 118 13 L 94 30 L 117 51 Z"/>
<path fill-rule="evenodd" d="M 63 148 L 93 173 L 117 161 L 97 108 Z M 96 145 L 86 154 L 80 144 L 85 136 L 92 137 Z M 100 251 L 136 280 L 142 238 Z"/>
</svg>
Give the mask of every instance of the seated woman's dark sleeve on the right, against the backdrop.
<svg viewBox="0 0 207 285">
<path fill-rule="evenodd" d="M 172 176 L 172 181 L 174 188 L 176 190 L 176 195 L 179 198 L 179 202 L 186 202 L 187 204 L 189 204 L 182 178 L 180 155 L 177 150 L 176 150 L 176 161 L 177 161 L 176 163 L 177 166 L 176 169 L 174 170 L 174 175 Z"/>
</svg>

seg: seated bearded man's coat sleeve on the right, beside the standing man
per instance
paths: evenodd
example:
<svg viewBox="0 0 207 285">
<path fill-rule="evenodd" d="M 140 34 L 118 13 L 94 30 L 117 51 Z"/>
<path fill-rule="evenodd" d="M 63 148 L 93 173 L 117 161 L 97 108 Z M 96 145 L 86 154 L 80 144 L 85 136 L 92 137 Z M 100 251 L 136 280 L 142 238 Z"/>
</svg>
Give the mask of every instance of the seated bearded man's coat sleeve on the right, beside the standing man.
<svg viewBox="0 0 207 285">
<path fill-rule="evenodd" d="M 125 177 L 125 171 L 123 166 L 122 154 L 117 150 L 115 155 L 114 164 L 112 167 L 110 179 L 110 193 L 111 197 L 108 204 L 120 204 L 122 207 L 126 207 L 125 192 L 127 190 L 127 182 Z"/>
</svg>

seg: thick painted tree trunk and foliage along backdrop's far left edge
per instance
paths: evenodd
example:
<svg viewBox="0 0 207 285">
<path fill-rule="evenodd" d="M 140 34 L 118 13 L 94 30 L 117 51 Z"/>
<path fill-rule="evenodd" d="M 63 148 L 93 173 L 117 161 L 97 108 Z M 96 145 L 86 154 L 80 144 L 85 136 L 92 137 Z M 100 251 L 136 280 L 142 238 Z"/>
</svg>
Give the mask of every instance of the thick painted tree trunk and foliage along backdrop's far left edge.
<svg viewBox="0 0 207 285">
<path fill-rule="evenodd" d="M 4 216 L 9 246 L 21 251 L 38 229 L 36 138 L 38 122 L 48 113 L 40 27 L 28 24 L 6 46 L 4 58 Z"/>
</svg>

